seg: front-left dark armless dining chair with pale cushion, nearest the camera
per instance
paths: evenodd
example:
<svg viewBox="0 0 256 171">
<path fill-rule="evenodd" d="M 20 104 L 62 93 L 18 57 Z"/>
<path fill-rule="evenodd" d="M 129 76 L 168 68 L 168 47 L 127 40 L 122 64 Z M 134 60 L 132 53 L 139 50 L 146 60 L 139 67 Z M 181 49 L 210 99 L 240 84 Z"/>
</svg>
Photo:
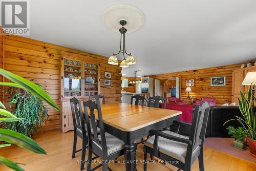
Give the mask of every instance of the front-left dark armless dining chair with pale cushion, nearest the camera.
<svg viewBox="0 0 256 171">
<path fill-rule="evenodd" d="M 108 169 L 111 170 L 108 167 L 108 162 L 111 160 L 117 159 L 117 157 L 122 156 L 124 154 L 124 142 L 109 133 L 105 133 L 100 104 L 96 104 L 92 100 L 88 100 L 83 102 L 83 107 L 84 107 L 87 126 L 88 127 L 92 126 L 92 130 L 96 131 L 97 130 L 96 119 L 97 119 L 99 130 L 100 130 L 100 134 L 97 135 L 97 134 L 92 134 L 91 129 L 88 129 L 89 153 L 88 153 L 87 171 L 96 170 L 101 166 L 103 171 L 106 171 Z M 90 117 L 91 117 L 90 120 L 89 120 L 88 108 L 90 110 Z M 95 110 L 97 111 L 97 113 L 94 113 Z M 103 162 L 98 166 L 94 167 L 93 169 L 91 169 L 93 153 L 99 156 Z"/>
</svg>

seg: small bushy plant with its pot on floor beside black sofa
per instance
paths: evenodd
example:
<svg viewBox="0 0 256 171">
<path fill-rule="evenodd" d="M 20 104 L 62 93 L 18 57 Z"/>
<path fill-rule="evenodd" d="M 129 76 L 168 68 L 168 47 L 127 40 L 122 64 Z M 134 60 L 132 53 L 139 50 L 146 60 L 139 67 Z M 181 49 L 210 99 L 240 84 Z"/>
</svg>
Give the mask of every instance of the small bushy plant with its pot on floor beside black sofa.
<svg viewBox="0 0 256 171">
<path fill-rule="evenodd" d="M 233 137 L 232 146 L 244 150 L 246 144 L 246 141 L 244 140 L 246 137 L 246 131 L 244 127 L 234 128 L 233 126 L 228 126 L 227 130 L 228 134 Z"/>
</svg>

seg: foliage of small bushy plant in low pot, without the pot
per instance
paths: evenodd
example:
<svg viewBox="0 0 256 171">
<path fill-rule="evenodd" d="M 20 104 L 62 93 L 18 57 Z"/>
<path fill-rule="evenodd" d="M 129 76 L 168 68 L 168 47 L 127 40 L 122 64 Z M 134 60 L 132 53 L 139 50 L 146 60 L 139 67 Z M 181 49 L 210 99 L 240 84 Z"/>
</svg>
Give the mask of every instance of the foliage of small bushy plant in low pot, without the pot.
<svg viewBox="0 0 256 171">
<path fill-rule="evenodd" d="M 245 137 L 246 137 L 246 131 L 244 127 L 237 127 L 234 128 L 233 126 L 228 126 L 227 127 L 228 134 L 231 135 L 234 140 L 239 141 L 241 143 L 245 142 Z"/>
</svg>

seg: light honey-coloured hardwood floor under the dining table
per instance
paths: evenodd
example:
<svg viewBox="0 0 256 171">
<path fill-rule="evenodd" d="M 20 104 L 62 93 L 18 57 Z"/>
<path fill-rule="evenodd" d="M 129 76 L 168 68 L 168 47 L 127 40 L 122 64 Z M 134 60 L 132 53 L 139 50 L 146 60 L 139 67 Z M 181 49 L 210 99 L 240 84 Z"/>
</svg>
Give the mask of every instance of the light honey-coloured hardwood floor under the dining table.
<svg viewBox="0 0 256 171">
<path fill-rule="evenodd" d="M 34 154 L 15 145 L 0 148 L 0 155 L 18 163 L 25 163 L 26 166 L 22 166 L 25 170 L 79 170 L 79 164 L 77 161 L 80 160 L 81 152 L 78 152 L 74 159 L 71 158 L 73 131 L 66 134 L 62 134 L 60 130 L 49 131 L 35 135 L 34 140 L 46 150 L 47 155 Z M 77 146 L 78 148 L 81 147 L 80 139 L 78 139 Z M 137 165 L 138 170 L 143 170 L 143 164 L 140 163 L 143 161 L 142 147 L 143 145 L 140 144 L 137 149 L 137 159 L 139 162 Z M 118 158 L 118 161 L 122 162 L 123 159 L 124 158 L 122 156 Z M 204 148 L 204 164 L 206 171 L 256 170 L 256 163 L 251 163 L 207 147 Z M 96 164 L 93 164 L 93 167 L 95 165 Z M 125 170 L 125 166 L 122 163 L 110 164 L 109 166 L 112 170 Z M 147 168 L 148 171 L 177 170 L 174 166 L 159 164 L 156 158 L 153 164 L 147 164 Z M 0 165 L 0 170 L 5 171 L 10 169 Z M 101 170 L 101 168 L 98 170 Z M 193 164 L 192 170 L 199 170 L 198 161 Z"/>
</svg>

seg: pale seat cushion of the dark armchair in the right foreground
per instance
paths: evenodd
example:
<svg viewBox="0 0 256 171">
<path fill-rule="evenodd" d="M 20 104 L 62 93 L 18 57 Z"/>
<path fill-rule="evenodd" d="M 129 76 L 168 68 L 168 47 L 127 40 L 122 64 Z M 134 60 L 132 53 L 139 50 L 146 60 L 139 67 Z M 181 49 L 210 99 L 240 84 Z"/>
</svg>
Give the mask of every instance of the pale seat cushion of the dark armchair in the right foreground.
<svg viewBox="0 0 256 171">
<path fill-rule="evenodd" d="M 182 136 L 177 133 L 170 132 L 170 131 L 163 131 L 163 133 L 173 135 L 176 137 L 180 137 L 180 138 L 188 139 L 185 136 Z M 154 148 L 153 147 L 154 140 L 155 140 L 155 136 L 148 138 L 145 141 L 145 145 L 148 147 Z M 186 157 L 186 152 L 187 152 L 187 144 L 185 144 L 185 143 L 169 140 L 169 139 L 159 136 L 158 150 L 159 150 L 159 152 L 161 152 L 167 156 L 170 156 L 176 160 L 181 161 L 182 163 L 185 163 L 185 157 Z"/>
</svg>

